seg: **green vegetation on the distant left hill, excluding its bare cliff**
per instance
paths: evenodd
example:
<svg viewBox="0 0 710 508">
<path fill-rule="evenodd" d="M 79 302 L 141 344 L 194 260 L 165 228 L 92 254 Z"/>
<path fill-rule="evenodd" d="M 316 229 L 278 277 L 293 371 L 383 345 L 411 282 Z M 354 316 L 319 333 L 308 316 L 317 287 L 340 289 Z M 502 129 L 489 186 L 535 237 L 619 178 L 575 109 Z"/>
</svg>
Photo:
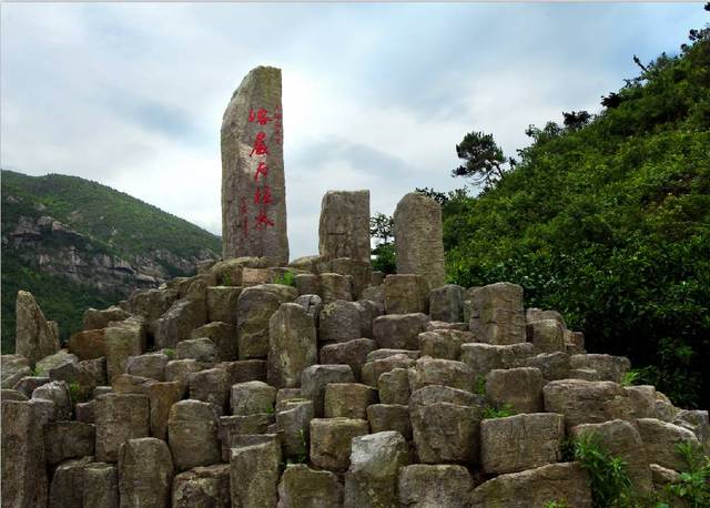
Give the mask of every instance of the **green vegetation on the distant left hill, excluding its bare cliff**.
<svg viewBox="0 0 710 508">
<path fill-rule="evenodd" d="M 2 171 L 2 353 L 14 349 L 18 289 L 31 292 L 45 317 L 59 323 L 62 341 L 81 329 L 88 307 L 104 308 L 125 296 L 48 274 L 6 243 L 21 216 L 36 220 L 41 215 L 52 216 L 83 234 L 83 238 L 71 240 L 82 253 L 115 255 L 132 262 L 136 255 L 158 248 L 185 258 L 204 248 L 221 251 L 217 236 L 105 185 L 77 176 L 28 176 Z M 42 242 L 47 250 L 65 246 L 53 235 Z M 170 275 L 184 275 L 165 261 L 162 265 Z"/>
</svg>

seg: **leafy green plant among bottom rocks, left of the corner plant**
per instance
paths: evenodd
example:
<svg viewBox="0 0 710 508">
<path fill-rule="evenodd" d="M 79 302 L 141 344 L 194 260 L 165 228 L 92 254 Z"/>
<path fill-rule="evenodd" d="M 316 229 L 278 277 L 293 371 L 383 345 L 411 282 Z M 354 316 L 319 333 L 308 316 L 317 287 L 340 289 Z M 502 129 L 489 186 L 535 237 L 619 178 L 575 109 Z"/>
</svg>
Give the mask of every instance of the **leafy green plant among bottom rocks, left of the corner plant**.
<svg viewBox="0 0 710 508">
<path fill-rule="evenodd" d="M 584 433 L 575 440 L 575 460 L 589 475 L 595 508 L 633 506 L 626 464 L 619 457 L 611 457 L 595 433 Z"/>
</svg>

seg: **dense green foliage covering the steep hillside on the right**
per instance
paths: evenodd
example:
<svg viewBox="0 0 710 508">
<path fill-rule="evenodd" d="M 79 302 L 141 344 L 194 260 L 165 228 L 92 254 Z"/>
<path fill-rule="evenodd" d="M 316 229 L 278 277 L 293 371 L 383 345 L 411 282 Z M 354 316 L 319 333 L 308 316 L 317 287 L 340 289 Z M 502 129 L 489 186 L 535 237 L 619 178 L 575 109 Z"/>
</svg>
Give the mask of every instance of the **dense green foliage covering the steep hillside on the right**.
<svg viewBox="0 0 710 508">
<path fill-rule="evenodd" d="M 590 118 L 532 143 L 478 196 L 444 204 L 450 282 L 509 281 L 590 352 L 627 355 L 676 404 L 710 400 L 710 37 L 694 31 Z"/>
</svg>

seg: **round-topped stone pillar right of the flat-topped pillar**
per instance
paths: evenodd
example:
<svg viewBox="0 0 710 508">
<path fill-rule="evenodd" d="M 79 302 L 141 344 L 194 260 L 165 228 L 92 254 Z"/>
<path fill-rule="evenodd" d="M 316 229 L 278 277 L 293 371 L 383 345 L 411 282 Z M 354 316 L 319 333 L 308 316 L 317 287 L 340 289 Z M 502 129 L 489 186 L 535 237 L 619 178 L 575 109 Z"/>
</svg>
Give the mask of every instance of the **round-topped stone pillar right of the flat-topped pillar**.
<svg viewBox="0 0 710 508">
<path fill-rule="evenodd" d="M 418 192 L 406 194 L 394 214 L 398 274 L 420 275 L 429 289 L 445 283 L 444 230 L 439 204 Z"/>
</svg>

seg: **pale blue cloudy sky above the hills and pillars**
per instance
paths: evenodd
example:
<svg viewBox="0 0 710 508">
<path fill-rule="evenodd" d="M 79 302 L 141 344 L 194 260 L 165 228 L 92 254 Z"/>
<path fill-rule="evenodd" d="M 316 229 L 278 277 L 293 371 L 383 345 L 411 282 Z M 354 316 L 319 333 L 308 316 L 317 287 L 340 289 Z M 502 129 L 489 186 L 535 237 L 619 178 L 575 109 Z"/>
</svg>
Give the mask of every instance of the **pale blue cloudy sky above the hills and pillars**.
<svg viewBox="0 0 710 508">
<path fill-rule="evenodd" d="M 222 115 L 254 67 L 283 71 L 291 257 L 317 254 L 321 199 L 392 214 L 464 180 L 455 145 L 525 129 L 674 54 L 702 3 L 7 3 L 0 165 L 126 192 L 221 234 Z"/>
</svg>

